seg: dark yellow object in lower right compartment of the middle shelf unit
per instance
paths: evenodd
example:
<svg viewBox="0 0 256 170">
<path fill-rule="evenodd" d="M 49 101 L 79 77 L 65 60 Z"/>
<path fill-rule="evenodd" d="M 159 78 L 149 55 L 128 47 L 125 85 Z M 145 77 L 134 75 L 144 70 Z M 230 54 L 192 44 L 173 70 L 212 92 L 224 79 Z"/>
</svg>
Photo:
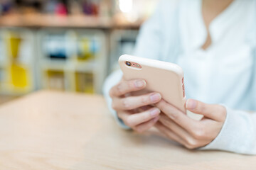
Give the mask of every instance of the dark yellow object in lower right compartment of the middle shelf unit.
<svg viewBox="0 0 256 170">
<path fill-rule="evenodd" d="M 94 94 L 93 87 L 93 74 L 92 73 L 75 73 L 75 90 L 87 94 Z"/>
</svg>

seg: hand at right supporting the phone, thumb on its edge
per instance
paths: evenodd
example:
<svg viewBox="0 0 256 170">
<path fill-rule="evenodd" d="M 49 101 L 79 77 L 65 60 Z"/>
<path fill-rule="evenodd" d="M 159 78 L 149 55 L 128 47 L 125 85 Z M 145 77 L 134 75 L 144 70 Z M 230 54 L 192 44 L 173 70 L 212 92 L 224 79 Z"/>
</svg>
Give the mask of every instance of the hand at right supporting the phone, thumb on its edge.
<svg viewBox="0 0 256 170">
<path fill-rule="evenodd" d="M 155 127 L 170 140 L 174 140 L 188 149 L 203 147 L 217 137 L 226 118 L 225 107 L 211 105 L 188 99 L 188 111 L 203 115 L 201 120 L 193 120 L 177 108 L 161 100 L 156 104 L 164 114 Z"/>
</svg>

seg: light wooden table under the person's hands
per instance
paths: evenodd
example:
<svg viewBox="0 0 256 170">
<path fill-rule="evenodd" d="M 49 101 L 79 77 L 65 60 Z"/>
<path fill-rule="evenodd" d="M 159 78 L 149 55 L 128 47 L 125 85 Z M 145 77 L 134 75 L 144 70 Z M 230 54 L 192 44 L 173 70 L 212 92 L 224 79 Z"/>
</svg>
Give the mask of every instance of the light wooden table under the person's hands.
<svg viewBox="0 0 256 170">
<path fill-rule="evenodd" d="M 0 169 L 256 169 L 256 157 L 189 151 L 120 129 L 102 96 L 40 91 L 0 106 Z"/>
</svg>

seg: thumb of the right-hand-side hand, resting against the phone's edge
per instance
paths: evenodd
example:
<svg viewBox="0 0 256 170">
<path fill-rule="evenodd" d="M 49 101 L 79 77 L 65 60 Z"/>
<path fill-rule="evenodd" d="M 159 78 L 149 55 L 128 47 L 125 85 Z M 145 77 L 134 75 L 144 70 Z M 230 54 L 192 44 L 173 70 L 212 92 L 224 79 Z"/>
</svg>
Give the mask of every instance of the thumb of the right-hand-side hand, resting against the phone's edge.
<svg viewBox="0 0 256 170">
<path fill-rule="evenodd" d="M 188 99 L 186 101 L 186 108 L 193 113 L 204 115 L 206 118 L 217 121 L 225 120 L 225 107 L 220 105 L 206 104 L 201 101 Z"/>
</svg>

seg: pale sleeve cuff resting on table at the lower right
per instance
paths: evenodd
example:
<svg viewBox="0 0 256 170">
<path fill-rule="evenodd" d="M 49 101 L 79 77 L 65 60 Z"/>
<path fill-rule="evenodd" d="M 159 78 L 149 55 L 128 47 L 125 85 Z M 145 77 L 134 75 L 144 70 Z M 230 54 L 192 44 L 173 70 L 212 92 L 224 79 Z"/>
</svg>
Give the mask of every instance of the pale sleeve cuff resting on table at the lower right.
<svg viewBox="0 0 256 170">
<path fill-rule="evenodd" d="M 227 117 L 218 136 L 200 149 L 218 149 L 239 154 L 256 154 L 256 113 L 228 107 Z"/>
</svg>

